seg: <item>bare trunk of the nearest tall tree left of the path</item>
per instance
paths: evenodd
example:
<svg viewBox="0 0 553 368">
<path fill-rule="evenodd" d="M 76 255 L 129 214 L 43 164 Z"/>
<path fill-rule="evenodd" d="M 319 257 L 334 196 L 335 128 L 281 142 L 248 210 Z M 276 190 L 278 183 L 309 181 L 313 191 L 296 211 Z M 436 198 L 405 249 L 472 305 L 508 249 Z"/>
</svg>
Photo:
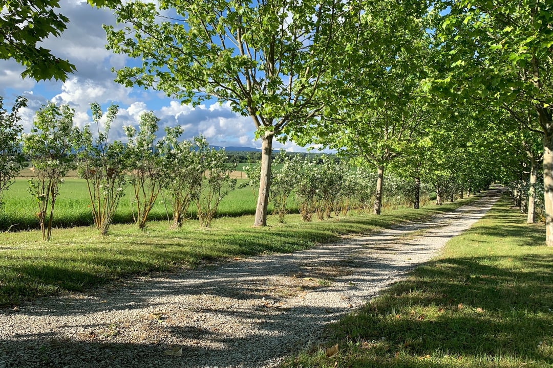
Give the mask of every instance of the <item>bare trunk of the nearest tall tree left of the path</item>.
<svg viewBox="0 0 553 368">
<path fill-rule="evenodd" d="M 267 206 L 269 204 L 271 162 L 273 160 L 273 137 L 273 132 L 266 132 L 261 138 L 261 176 L 259 178 L 259 193 L 253 226 L 267 226 Z"/>
</svg>

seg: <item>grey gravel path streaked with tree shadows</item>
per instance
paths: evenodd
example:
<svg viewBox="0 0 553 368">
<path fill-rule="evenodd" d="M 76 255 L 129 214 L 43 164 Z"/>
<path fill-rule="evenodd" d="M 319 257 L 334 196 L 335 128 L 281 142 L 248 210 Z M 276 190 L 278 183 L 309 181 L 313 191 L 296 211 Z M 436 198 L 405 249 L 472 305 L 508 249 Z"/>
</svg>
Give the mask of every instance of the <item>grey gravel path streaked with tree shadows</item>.
<svg viewBox="0 0 553 368">
<path fill-rule="evenodd" d="M 0 311 L 0 368 L 278 365 L 436 255 L 500 192 L 425 223 Z"/>
</svg>

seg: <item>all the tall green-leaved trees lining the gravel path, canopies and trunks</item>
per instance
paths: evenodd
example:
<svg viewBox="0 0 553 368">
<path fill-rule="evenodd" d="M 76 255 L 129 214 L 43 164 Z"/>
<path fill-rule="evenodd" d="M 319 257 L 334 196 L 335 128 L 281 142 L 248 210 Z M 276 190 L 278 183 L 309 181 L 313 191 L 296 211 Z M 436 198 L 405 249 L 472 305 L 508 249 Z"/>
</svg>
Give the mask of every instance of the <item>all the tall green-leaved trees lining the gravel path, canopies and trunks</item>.
<svg viewBox="0 0 553 368">
<path fill-rule="evenodd" d="M 118 82 L 252 118 L 263 146 L 255 226 L 266 225 L 273 140 L 293 138 L 372 164 L 375 213 L 392 167 L 437 188 L 505 180 L 525 191 L 529 221 L 542 177 L 553 246 L 553 3 L 89 2 L 116 14 L 107 48 L 139 61 Z"/>
</svg>

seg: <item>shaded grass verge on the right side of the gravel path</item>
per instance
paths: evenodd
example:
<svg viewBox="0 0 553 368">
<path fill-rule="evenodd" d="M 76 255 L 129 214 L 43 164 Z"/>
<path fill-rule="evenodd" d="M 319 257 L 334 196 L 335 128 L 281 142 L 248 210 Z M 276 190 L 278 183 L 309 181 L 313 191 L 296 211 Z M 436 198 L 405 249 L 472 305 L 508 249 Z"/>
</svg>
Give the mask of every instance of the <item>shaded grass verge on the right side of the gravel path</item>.
<svg viewBox="0 0 553 368">
<path fill-rule="evenodd" d="M 481 221 L 284 367 L 553 366 L 553 248 L 503 198 Z"/>
</svg>

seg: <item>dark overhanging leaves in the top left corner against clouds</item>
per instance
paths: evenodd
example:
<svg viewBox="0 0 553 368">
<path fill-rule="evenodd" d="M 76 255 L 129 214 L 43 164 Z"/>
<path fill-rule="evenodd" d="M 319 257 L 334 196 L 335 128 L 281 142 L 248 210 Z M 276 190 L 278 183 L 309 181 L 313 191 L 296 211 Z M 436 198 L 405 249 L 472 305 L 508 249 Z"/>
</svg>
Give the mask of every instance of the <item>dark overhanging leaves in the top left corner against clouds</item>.
<svg viewBox="0 0 553 368">
<path fill-rule="evenodd" d="M 76 71 L 74 65 L 37 46 L 49 36 L 60 36 L 69 19 L 55 12 L 59 0 L 2 0 L 0 1 L 0 58 L 13 58 L 26 69 L 21 76 L 36 81 L 57 79 L 65 81 L 67 74 Z"/>
</svg>

